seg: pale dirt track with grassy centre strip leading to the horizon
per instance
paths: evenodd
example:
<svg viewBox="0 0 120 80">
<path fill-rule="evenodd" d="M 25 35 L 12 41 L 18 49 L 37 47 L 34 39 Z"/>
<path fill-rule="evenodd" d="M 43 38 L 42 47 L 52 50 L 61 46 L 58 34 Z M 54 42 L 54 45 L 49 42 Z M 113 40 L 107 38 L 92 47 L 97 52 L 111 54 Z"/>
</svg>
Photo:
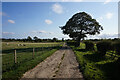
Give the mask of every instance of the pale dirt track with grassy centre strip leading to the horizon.
<svg viewBox="0 0 120 80">
<path fill-rule="evenodd" d="M 77 78 L 83 80 L 74 52 L 66 45 L 26 72 L 24 78 Z"/>
</svg>

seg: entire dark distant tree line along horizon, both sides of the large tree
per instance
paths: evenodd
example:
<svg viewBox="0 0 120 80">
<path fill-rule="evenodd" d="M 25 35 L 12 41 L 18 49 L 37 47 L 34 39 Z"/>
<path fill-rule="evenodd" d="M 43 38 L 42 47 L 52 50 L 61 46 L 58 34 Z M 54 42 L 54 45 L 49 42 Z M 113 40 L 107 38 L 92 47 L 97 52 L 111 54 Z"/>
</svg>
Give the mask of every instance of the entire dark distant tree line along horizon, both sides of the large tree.
<svg viewBox="0 0 120 80">
<path fill-rule="evenodd" d="M 18 42 L 64 42 L 64 41 L 75 41 L 74 39 L 64 39 L 62 38 L 62 40 L 58 40 L 58 38 L 52 38 L 52 39 L 40 39 L 38 37 L 33 37 L 31 38 L 30 36 L 28 36 L 27 38 L 23 38 L 23 39 L 15 39 L 15 38 L 9 38 L 9 39 L 6 39 L 6 38 L 2 38 L 0 39 L 2 40 L 3 42 L 11 42 L 11 41 L 18 41 Z M 98 41 L 120 41 L 120 38 L 114 38 L 114 39 L 87 39 L 87 40 L 82 40 L 81 42 L 83 41 L 93 41 L 93 42 L 98 42 Z"/>
</svg>

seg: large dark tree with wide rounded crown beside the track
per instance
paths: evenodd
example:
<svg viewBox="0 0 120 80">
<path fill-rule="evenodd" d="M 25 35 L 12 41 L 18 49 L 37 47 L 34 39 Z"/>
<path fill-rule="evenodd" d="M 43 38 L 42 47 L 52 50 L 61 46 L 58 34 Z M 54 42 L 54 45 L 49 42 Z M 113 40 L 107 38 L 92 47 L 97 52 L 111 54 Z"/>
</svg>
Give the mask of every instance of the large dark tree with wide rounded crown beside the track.
<svg viewBox="0 0 120 80">
<path fill-rule="evenodd" d="M 70 18 L 65 26 L 60 27 L 64 34 L 76 40 L 77 45 L 80 45 L 81 39 L 87 35 L 100 34 L 103 30 L 102 26 L 85 12 L 79 12 Z"/>
</svg>

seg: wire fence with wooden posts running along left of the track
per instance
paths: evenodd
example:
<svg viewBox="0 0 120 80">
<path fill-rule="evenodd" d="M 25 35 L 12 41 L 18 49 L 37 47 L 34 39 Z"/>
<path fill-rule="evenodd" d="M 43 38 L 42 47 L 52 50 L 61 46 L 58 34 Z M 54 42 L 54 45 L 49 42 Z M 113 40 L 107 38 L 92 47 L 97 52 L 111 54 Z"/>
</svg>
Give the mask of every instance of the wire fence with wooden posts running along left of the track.
<svg viewBox="0 0 120 80">
<path fill-rule="evenodd" d="M 49 52 L 53 49 L 59 49 L 60 44 L 47 44 L 41 47 L 34 48 L 18 48 L 12 50 L 4 50 L 2 56 L 2 71 L 6 72 L 13 69 L 15 65 L 21 65 L 24 62 L 33 60 L 38 56 L 42 56 L 44 53 Z"/>
</svg>

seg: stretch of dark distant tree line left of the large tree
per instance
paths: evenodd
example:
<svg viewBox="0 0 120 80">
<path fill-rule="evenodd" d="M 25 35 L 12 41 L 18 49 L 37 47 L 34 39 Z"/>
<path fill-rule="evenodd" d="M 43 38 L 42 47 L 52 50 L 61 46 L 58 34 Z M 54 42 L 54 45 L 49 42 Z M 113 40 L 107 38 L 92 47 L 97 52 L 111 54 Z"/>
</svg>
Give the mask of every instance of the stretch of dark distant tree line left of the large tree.
<svg viewBox="0 0 120 80">
<path fill-rule="evenodd" d="M 18 41 L 18 42 L 63 42 L 64 38 L 62 38 L 62 40 L 58 40 L 58 38 L 53 38 L 53 39 L 40 39 L 38 37 L 30 37 L 28 36 L 27 38 L 24 39 L 15 39 L 15 38 L 9 38 L 9 39 L 5 39 L 2 38 L 3 42 L 14 42 L 14 41 Z"/>
</svg>

